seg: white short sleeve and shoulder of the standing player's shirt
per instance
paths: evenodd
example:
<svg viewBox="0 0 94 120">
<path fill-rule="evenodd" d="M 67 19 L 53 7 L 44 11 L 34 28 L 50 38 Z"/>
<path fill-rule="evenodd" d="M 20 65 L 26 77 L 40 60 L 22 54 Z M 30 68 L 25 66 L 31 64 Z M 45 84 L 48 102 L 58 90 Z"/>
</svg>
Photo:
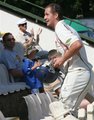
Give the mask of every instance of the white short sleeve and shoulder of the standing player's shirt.
<svg viewBox="0 0 94 120">
<path fill-rule="evenodd" d="M 80 40 L 78 33 L 69 25 L 59 23 L 55 29 L 58 39 L 68 47 L 77 40 Z"/>
</svg>

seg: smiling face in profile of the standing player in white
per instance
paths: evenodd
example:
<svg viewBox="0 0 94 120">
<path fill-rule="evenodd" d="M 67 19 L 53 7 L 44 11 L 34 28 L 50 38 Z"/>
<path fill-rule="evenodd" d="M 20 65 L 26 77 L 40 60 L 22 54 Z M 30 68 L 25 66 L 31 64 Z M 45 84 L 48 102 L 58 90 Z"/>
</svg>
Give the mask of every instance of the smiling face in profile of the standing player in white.
<svg viewBox="0 0 94 120">
<path fill-rule="evenodd" d="M 57 19 L 56 19 L 57 16 L 56 15 L 57 15 L 56 13 L 52 13 L 50 7 L 45 9 L 44 19 L 45 19 L 48 27 L 51 27 L 53 29 L 55 28 L 55 25 L 57 23 Z"/>
</svg>

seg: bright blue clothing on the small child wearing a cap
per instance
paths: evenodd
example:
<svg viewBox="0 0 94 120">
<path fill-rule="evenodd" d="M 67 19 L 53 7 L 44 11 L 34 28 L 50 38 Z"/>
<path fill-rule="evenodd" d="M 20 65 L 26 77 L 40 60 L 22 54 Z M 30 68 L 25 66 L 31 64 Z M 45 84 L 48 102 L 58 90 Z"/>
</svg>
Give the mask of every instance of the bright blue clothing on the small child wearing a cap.
<svg viewBox="0 0 94 120">
<path fill-rule="evenodd" d="M 34 61 L 28 58 L 23 60 L 22 71 L 25 75 L 25 81 L 31 89 L 43 88 L 42 82 L 36 76 L 37 69 L 31 69 L 34 66 L 34 63 Z"/>
</svg>

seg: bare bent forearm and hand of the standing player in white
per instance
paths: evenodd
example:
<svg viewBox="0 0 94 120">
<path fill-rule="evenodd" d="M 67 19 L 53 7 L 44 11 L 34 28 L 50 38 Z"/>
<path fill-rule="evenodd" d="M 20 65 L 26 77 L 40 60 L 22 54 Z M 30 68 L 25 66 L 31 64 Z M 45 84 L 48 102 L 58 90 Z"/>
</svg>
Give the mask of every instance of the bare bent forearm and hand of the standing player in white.
<svg viewBox="0 0 94 120">
<path fill-rule="evenodd" d="M 70 47 L 69 49 L 64 53 L 63 56 L 55 58 L 53 60 L 53 65 L 54 67 L 60 67 L 61 65 L 63 65 L 65 63 L 65 61 L 67 61 L 69 58 L 71 58 L 73 55 L 77 54 L 79 52 L 79 50 L 81 49 L 81 47 L 83 46 L 82 42 L 77 40 L 75 41 Z"/>
</svg>

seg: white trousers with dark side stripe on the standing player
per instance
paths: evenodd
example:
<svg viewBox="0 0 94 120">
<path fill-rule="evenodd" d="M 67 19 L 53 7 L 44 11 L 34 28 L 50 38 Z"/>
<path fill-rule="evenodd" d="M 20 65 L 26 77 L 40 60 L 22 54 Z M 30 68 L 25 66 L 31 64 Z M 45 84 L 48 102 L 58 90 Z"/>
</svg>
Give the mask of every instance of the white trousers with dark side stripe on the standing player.
<svg viewBox="0 0 94 120">
<path fill-rule="evenodd" d="M 85 97 L 90 86 L 90 72 L 76 70 L 68 72 L 61 87 L 60 100 L 65 109 L 74 111 Z"/>
</svg>

